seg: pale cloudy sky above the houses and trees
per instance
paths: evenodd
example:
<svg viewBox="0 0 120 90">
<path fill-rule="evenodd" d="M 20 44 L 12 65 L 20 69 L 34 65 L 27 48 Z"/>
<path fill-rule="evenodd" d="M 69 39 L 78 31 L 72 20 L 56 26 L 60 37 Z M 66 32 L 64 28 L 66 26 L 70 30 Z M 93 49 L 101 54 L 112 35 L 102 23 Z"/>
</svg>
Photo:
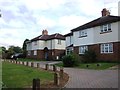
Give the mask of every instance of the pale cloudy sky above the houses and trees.
<svg viewBox="0 0 120 90">
<path fill-rule="evenodd" d="M 103 8 L 118 16 L 120 0 L 0 0 L 0 46 L 22 47 L 48 30 L 67 34 L 71 29 L 101 17 Z"/>
</svg>

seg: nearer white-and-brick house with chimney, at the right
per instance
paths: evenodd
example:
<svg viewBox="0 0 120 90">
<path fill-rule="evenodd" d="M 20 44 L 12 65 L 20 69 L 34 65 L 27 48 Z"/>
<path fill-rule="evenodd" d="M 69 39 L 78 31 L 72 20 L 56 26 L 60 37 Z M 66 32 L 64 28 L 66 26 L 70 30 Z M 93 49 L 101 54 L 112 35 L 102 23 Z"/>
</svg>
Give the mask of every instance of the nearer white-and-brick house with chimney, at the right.
<svg viewBox="0 0 120 90">
<path fill-rule="evenodd" d="M 98 60 L 120 60 L 120 16 L 112 16 L 104 8 L 102 16 L 71 30 L 65 35 L 66 54 L 83 55 L 94 50 Z"/>
</svg>

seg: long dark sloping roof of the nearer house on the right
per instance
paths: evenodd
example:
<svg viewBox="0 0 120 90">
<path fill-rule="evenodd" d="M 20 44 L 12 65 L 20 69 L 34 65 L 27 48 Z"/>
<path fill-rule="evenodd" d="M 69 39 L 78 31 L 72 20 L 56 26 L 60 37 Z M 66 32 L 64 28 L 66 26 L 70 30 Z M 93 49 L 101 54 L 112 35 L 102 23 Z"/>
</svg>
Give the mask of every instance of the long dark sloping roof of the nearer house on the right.
<svg viewBox="0 0 120 90">
<path fill-rule="evenodd" d="M 72 29 L 71 31 L 79 31 L 79 30 L 83 30 L 83 29 L 87 29 L 87 28 L 92 28 L 95 26 L 100 26 L 103 24 L 107 24 L 107 23 L 112 23 L 112 22 L 117 22 L 120 21 L 120 16 L 112 16 L 112 15 L 108 15 L 108 16 L 104 16 L 104 17 L 100 17 L 97 18 L 91 22 L 88 22 L 82 26 L 79 26 L 75 29 Z"/>
</svg>

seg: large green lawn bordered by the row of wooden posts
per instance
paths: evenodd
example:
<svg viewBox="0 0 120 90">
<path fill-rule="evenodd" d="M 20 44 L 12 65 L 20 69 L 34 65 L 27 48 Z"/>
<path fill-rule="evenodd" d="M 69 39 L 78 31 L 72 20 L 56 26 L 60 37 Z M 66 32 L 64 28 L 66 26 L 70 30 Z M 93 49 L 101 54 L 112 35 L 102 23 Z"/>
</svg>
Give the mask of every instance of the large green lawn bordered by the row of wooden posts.
<svg viewBox="0 0 120 90">
<path fill-rule="evenodd" d="M 37 68 L 2 62 L 2 82 L 8 88 L 31 87 L 34 78 L 39 78 L 40 83 L 45 85 L 46 83 L 53 82 L 53 73 Z"/>
</svg>

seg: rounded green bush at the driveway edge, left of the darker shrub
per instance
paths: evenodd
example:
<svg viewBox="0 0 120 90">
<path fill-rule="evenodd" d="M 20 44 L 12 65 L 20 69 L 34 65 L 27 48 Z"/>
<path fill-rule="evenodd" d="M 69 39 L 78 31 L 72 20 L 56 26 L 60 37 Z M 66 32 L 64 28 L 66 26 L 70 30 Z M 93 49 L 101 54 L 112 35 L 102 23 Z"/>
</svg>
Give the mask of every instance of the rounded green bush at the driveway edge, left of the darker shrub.
<svg viewBox="0 0 120 90">
<path fill-rule="evenodd" d="M 63 66 L 73 67 L 79 64 L 79 58 L 76 54 L 68 54 L 62 58 Z"/>
</svg>

